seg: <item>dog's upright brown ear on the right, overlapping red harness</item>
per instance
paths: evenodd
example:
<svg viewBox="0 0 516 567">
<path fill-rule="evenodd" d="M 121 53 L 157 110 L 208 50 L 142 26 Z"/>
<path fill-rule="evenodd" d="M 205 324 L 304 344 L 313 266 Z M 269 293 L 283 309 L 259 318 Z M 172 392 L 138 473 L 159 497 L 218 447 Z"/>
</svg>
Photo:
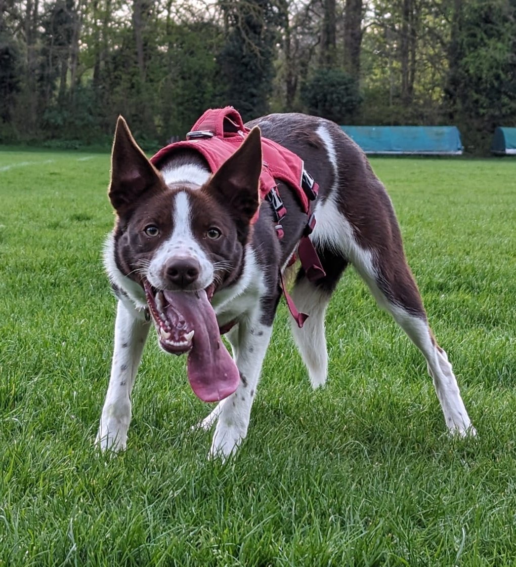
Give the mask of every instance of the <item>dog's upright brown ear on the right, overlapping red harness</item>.
<svg viewBox="0 0 516 567">
<path fill-rule="evenodd" d="M 261 172 L 262 143 L 260 129 L 255 126 L 209 181 L 210 194 L 229 206 L 233 215 L 249 224 L 260 204 Z"/>
</svg>

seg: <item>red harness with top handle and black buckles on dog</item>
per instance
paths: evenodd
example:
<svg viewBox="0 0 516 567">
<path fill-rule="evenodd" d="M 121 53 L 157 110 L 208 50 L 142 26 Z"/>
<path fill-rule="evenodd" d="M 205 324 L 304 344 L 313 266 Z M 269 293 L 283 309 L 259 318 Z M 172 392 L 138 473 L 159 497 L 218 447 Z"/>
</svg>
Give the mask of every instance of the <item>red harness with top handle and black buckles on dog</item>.
<svg viewBox="0 0 516 567">
<path fill-rule="evenodd" d="M 249 128 L 244 126 L 240 114 L 233 107 L 209 109 L 195 122 L 191 132 L 186 134 L 186 140 L 163 147 L 152 156 L 151 162 L 159 166 L 164 158 L 170 158 L 176 151 L 190 149 L 200 153 L 206 159 L 211 172 L 215 172 L 237 150 L 249 131 Z M 262 158 L 263 167 L 259 182 L 260 201 L 265 199 L 270 202 L 276 218 L 276 234 L 278 238 L 283 238 L 281 221 L 287 214 L 287 209 L 280 197 L 277 180 L 283 181 L 296 194 L 301 210 L 308 216 L 304 233 L 297 246 L 297 253 L 306 277 L 310 281 L 318 280 L 326 274 L 308 236 L 315 226 L 315 216 L 310 211 L 310 201 L 317 197 L 319 186 L 306 172 L 303 160 L 299 156 L 263 137 Z M 258 211 L 251 222 L 256 222 L 257 219 Z M 295 256 L 292 257 L 291 263 L 294 261 Z M 292 298 L 285 289 L 281 271 L 279 275 L 289 311 L 298 326 L 302 327 L 308 315 L 297 311 Z"/>
</svg>

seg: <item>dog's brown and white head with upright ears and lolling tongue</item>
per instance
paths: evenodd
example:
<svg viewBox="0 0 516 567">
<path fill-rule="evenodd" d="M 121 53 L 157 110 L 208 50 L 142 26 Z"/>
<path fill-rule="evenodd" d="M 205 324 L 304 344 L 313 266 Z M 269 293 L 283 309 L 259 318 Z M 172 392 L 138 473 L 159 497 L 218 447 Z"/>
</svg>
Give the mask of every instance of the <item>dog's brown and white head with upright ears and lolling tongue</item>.
<svg viewBox="0 0 516 567">
<path fill-rule="evenodd" d="M 174 354 L 190 352 L 189 367 L 199 361 L 212 374 L 229 370 L 220 359 L 225 348 L 210 300 L 240 272 L 259 206 L 261 169 L 260 133 L 254 128 L 204 185 L 169 187 L 125 120 L 118 119 L 109 185 L 116 211 L 116 270 L 122 280 L 129 278 L 144 290 L 161 348 Z M 233 388 L 234 370 L 230 374 Z M 215 390 L 194 390 L 211 401 L 225 397 L 227 388 L 219 384 Z"/>
</svg>

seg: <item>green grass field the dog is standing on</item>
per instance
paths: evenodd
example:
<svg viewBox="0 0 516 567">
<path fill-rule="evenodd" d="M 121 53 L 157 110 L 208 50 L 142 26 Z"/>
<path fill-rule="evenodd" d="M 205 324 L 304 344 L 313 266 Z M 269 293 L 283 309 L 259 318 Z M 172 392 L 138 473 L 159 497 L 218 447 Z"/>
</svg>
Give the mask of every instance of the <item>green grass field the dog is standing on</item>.
<svg viewBox="0 0 516 567">
<path fill-rule="evenodd" d="M 0 566 L 516 565 L 516 160 L 374 159 L 479 433 L 349 270 L 312 392 L 282 304 L 249 436 L 148 342 L 125 454 L 93 448 L 114 299 L 104 154 L 0 152 Z"/>
</svg>

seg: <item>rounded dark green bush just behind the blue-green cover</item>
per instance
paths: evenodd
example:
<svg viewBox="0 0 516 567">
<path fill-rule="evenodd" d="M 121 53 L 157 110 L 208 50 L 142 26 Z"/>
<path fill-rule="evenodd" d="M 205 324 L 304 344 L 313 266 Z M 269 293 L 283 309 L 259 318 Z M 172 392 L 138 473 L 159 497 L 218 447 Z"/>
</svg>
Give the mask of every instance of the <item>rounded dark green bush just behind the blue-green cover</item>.
<svg viewBox="0 0 516 567">
<path fill-rule="evenodd" d="M 356 80 L 340 69 L 318 69 L 301 87 L 308 112 L 337 124 L 348 124 L 357 112 L 361 96 Z"/>
</svg>

